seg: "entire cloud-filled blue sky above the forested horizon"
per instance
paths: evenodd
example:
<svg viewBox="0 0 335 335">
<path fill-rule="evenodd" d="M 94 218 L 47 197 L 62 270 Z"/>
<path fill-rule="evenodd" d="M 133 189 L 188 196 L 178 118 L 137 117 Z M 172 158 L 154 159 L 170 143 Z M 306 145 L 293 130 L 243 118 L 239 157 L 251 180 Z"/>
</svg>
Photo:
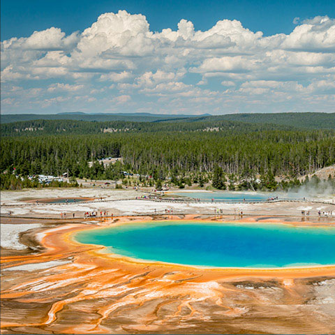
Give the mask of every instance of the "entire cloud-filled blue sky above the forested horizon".
<svg viewBox="0 0 335 335">
<path fill-rule="evenodd" d="M 335 112 L 334 17 L 334 1 L 1 1 L 1 110 Z"/>
</svg>

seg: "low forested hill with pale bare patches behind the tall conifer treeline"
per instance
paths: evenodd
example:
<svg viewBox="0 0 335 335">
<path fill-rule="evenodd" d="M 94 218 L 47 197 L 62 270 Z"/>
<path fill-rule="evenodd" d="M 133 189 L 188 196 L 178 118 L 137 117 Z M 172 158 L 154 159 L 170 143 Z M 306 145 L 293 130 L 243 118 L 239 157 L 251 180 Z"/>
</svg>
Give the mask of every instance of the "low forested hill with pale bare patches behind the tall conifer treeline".
<svg viewBox="0 0 335 335">
<path fill-rule="evenodd" d="M 290 126 L 275 124 L 248 124 L 239 121 L 208 120 L 194 122 L 132 122 L 132 121 L 75 121 L 75 120 L 34 120 L 1 124 L 2 136 L 22 135 L 90 135 L 98 133 L 156 133 L 156 132 L 225 132 L 251 133 L 253 131 L 289 131 Z"/>
</svg>

